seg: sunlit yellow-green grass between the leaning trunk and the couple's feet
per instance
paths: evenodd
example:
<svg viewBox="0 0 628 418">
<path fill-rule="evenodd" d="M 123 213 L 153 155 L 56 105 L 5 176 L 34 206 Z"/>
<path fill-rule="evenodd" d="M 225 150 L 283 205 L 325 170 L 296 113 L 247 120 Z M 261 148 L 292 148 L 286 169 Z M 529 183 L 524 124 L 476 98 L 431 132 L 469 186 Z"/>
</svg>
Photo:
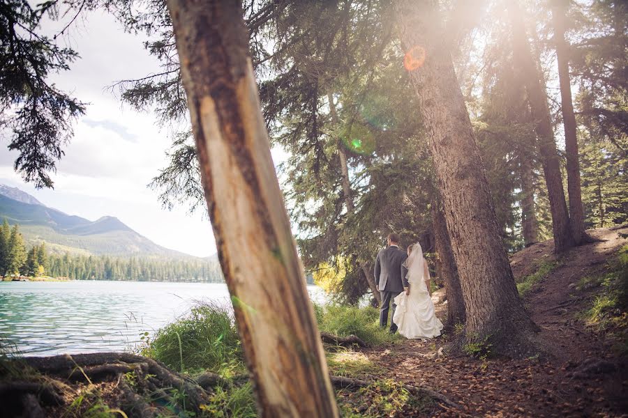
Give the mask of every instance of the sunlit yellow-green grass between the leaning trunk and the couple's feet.
<svg viewBox="0 0 628 418">
<path fill-rule="evenodd" d="M 373 307 L 332 304 L 319 309 L 317 319 L 321 331 L 338 336 L 355 335 L 371 346 L 398 340 L 397 334 L 390 334 L 380 328 L 379 311 Z"/>
</svg>

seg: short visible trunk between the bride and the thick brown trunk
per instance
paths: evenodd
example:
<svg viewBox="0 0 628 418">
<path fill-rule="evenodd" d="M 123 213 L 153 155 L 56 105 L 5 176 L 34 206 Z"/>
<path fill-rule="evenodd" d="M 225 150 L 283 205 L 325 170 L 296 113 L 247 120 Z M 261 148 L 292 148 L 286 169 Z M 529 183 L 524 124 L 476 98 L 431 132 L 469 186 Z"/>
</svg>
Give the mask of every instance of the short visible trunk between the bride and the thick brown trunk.
<svg viewBox="0 0 628 418">
<path fill-rule="evenodd" d="M 451 251 L 451 241 L 449 240 L 444 213 L 437 199 L 432 199 L 431 206 L 436 254 L 438 256 L 438 272 L 444 281 L 445 292 L 447 293 L 447 325 L 464 324 L 467 320 L 465 301 L 460 286 L 458 266 L 454 259 L 454 253 Z"/>
</svg>

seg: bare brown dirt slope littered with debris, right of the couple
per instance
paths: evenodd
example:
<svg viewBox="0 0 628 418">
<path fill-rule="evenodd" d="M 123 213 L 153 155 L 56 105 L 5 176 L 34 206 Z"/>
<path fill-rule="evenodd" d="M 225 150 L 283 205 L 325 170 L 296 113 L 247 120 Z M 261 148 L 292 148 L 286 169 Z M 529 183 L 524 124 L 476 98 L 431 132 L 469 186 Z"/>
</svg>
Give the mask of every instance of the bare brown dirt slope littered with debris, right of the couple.
<svg viewBox="0 0 628 418">
<path fill-rule="evenodd" d="M 539 337 L 553 347 L 550 359 L 440 355 L 439 348 L 451 338 L 447 334 L 361 353 L 382 365 L 385 377 L 431 387 L 460 405 L 458 410 L 443 406 L 416 410 L 417 416 L 628 417 L 625 328 L 618 334 L 613 324 L 592 325 L 585 315 L 603 297 L 599 295 L 608 261 L 626 245 L 627 233 L 628 227 L 590 231 L 597 242 L 572 249 L 560 259 L 553 254 L 552 241 L 511 258 L 516 280 L 528 288 L 525 306 L 541 328 Z M 541 269 L 544 277 L 534 274 Z M 526 283 L 530 278 L 532 284 Z M 438 316 L 446 312 L 446 304 L 437 305 Z M 412 416 L 412 411 L 404 415 Z"/>
</svg>

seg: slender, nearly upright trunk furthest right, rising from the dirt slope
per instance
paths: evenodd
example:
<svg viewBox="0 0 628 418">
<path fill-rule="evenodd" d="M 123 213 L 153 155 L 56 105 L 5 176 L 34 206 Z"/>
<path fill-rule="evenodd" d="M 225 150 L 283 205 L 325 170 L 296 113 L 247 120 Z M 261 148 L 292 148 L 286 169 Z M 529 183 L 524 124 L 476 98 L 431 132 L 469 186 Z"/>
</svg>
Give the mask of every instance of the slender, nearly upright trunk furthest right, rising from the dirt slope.
<svg viewBox="0 0 628 418">
<path fill-rule="evenodd" d="M 576 245 L 585 241 L 584 210 L 580 183 L 580 162 L 578 161 L 578 139 L 576 137 L 576 116 L 571 101 L 571 81 L 569 79 L 569 47 L 565 41 L 565 14 L 569 0 L 553 0 L 552 18 L 554 42 L 558 61 L 560 82 L 560 108 L 562 125 L 565 127 L 565 151 L 567 153 L 567 192 L 569 193 L 569 224 Z"/>
</svg>

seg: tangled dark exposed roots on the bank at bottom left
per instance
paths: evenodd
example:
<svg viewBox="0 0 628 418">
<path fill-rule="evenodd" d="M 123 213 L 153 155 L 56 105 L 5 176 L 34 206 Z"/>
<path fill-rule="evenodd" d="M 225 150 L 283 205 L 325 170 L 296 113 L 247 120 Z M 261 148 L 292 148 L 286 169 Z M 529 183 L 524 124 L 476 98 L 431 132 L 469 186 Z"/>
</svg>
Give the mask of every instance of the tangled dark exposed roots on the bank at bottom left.
<svg viewBox="0 0 628 418">
<path fill-rule="evenodd" d="M 36 382 L 3 383 L 0 401 L 13 399 L 16 415 L 27 417 L 38 417 L 42 406 L 66 403 L 62 393 L 66 382 L 87 384 L 88 388 L 101 382 L 114 382 L 115 406 L 128 417 L 140 418 L 160 415 L 164 405 L 183 410 L 181 396 L 185 398 L 185 409 L 200 415 L 200 406 L 209 402 L 208 392 L 211 392 L 210 386 L 203 389 L 194 380 L 170 371 L 154 359 L 128 353 L 27 357 L 22 361 L 47 378 L 39 376 Z"/>
</svg>

